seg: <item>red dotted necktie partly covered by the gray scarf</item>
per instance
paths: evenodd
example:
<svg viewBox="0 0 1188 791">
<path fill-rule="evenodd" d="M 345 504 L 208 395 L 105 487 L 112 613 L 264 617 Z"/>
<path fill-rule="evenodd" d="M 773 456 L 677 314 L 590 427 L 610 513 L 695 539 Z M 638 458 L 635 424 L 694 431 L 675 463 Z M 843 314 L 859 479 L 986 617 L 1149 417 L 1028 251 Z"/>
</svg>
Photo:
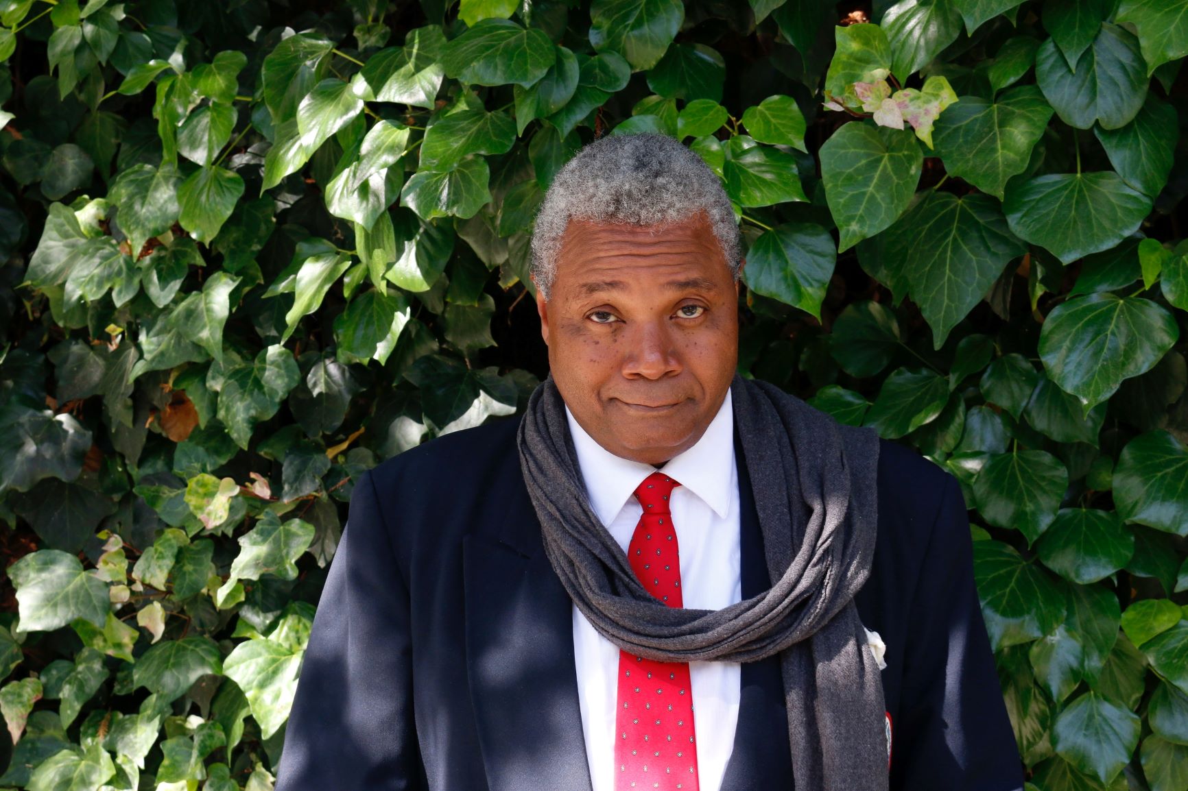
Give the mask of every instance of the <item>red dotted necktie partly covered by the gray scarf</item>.
<svg viewBox="0 0 1188 791">
<path fill-rule="evenodd" d="M 683 607 L 681 562 L 669 495 L 681 486 L 652 473 L 636 488 L 644 507 L 627 545 L 636 577 L 669 607 Z M 689 664 L 619 651 L 614 740 L 615 791 L 697 791 Z"/>
</svg>

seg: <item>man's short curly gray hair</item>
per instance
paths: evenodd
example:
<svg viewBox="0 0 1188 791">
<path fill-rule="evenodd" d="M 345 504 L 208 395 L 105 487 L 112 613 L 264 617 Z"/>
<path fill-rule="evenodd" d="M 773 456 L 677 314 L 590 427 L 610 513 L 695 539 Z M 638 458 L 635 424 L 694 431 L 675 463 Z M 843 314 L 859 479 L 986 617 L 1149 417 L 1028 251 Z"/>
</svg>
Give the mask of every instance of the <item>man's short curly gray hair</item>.
<svg viewBox="0 0 1188 791">
<path fill-rule="evenodd" d="M 663 134 L 613 134 L 589 145 L 552 179 L 536 215 L 531 271 L 548 299 L 561 238 L 573 219 L 656 226 L 700 211 L 739 274 L 739 228 L 731 200 L 701 157 Z"/>
</svg>

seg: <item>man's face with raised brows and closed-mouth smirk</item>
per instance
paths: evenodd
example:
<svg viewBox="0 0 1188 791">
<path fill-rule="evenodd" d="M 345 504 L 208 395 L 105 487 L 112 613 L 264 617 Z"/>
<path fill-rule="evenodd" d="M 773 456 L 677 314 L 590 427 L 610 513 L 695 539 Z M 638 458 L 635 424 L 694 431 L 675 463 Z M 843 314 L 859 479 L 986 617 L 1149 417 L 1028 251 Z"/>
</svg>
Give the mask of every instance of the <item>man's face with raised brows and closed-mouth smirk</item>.
<svg viewBox="0 0 1188 791">
<path fill-rule="evenodd" d="M 571 220 L 541 334 L 561 397 L 612 454 L 690 448 L 738 365 L 738 284 L 703 214 L 664 226 Z"/>
</svg>

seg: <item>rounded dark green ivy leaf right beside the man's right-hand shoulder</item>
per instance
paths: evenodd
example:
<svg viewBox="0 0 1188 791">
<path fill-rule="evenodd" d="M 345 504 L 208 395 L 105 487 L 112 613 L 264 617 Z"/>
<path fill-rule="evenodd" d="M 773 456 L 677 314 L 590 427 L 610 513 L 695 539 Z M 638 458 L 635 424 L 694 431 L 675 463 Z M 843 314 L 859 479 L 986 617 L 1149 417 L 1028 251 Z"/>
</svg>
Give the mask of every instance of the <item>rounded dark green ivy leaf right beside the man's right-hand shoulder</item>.
<svg viewBox="0 0 1188 791">
<path fill-rule="evenodd" d="M 1056 518 L 1067 487 L 1068 469 L 1043 450 L 997 454 L 973 481 L 982 518 L 996 527 L 1020 531 L 1028 544 Z"/>
</svg>

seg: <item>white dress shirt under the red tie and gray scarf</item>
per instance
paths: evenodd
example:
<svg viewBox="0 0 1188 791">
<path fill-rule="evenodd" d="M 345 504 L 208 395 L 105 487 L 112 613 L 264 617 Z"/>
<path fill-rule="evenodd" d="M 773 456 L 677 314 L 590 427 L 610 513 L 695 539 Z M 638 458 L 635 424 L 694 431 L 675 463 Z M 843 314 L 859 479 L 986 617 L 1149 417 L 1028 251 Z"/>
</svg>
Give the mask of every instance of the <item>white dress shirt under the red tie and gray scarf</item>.
<svg viewBox="0 0 1188 791">
<path fill-rule="evenodd" d="M 643 507 L 634 489 L 656 472 L 598 444 L 565 407 L 586 492 L 594 513 L 627 551 Z M 739 545 L 738 472 L 734 468 L 734 413 L 731 393 L 691 448 L 664 464 L 681 483 L 669 501 L 681 553 L 681 589 L 690 609 L 721 609 L 742 599 Z M 619 648 L 599 634 L 574 607 L 574 657 L 586 758 L 594 791 L 614 791 L 614 723 Z M 734 748 L 740 665 L 689 664 L 697 777 L 702 791 L 719 791 Z"/>
</svg>

